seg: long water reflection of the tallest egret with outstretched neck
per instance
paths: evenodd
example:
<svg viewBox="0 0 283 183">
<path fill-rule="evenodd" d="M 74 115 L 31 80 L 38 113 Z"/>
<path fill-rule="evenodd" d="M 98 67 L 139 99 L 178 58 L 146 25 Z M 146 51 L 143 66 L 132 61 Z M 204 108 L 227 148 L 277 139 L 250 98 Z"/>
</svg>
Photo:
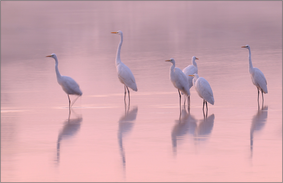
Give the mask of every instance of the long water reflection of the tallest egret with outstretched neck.
<svg viewBox="0 0 283 183">
<path fill-rule="evenodd" d="M 130 102 L 128 104 L 128 107 L 125 103 L 125 113 L 120 117 L 119 119 L 119 129 L 118 129 L 118 143 L 119 143 L 119 147 L 120 147 L 120 154 L 122 157 L 122 161 L 123 161 L 123 170 L 125 173 L 126 170 L 126 157 L 125 157 L 125 150 L 123 148 L 123 137 L 125 137 L 126 134 L 128 134 L 132 128 L 133 128 L 133 121 L 136 120 L 137 118 L 137 111 L 138 111 L 138 107 L 134 106 L 131 110 L 130 110 Z"/>
</svg>

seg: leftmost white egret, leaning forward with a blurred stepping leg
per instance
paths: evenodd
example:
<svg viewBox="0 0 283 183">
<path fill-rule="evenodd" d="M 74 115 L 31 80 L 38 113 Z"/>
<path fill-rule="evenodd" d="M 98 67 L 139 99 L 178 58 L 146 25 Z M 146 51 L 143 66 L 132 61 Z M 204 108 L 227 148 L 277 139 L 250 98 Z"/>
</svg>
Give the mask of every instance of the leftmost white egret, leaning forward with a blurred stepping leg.
<svg viewBox="0 0 283 183">
<path fill-rule="evenodd" d="M 58 59 L 57 59 L 56 54 L 53 53 L 53 54 L 46 56 L 46 57 L 51 57 L 51 58 L 54 58 L 54 60 L 55 60 L 55 72 L 56 72 L 57 82 L 58 82 L 59 85 L 61 85 L 64 92 L 66 92 L 67 95 L 68 95 L 69 109 L 70 109 L 71 100 L 70 100 L 69 95 L 78 95 L 78 97 L 79 97 L 83 94 L 83 92 L 80 90 L 79 85 L 77 84 L 77 82 L 73 78 L 68 77 L 68 76 L 61 76 L 61 74 L 59 73 L 59 70 L 58 70 Z M 75 103 L 75 101 L 78 99 L 78 97 L 74 100 L 72 105 Z"/>
</svg>

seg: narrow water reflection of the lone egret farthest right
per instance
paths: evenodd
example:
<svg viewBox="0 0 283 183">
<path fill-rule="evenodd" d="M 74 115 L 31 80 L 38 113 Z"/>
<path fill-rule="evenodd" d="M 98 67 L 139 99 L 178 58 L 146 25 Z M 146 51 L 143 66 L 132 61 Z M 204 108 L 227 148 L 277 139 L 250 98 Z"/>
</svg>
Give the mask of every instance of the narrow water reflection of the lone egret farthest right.
<svg viewBox="0 0 283 183">
<path fill-rule="evenodd" d="M 260 110 L 259 103 L 258 103 L 258 111 L 255 114 L 255 116 L 252 118 L 252 125 L 251 125 L 251 132 L 250 132 L 251 158 L 253 154 L 254 132 L 261 130 L 263 126 L 265 125 L 265 122 L 267 119 L 267 112 L 268 112 L 268 106 L 263 106 L 263 102 L 262 102 L 262 109 Z"/>
</svg>

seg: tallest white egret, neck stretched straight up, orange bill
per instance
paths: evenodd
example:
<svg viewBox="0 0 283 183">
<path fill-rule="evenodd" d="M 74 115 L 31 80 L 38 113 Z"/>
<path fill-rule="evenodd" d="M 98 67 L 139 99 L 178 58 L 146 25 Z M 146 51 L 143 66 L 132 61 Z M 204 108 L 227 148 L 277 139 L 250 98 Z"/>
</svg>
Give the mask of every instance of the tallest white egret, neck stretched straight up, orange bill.
<svg viewBox="0 0 283 183">
<path fill-rule="evenodd" d="M 137 91 L 138 89 L 137 89 L 136 80 L 135 80 L 135 77 L 132 71 L 123 62 L 121 62 L 121 59 L 120 59 L 120 51 L 121 51 L 121 46 L 123 43 L 123 32 L 117 31 L 117 32 L 111 32 L 111 33 L 120 35 L 120 43 L 118 44 L 118 48 L 117 48 L 115 66 L 116 66 L 118 78 L 120 82 L 124 84 L 124 89 L 125 89 L 124 100 L 126 100 L 126 87 L 127 87 L 129 101 L 130 101 L 130 91 L 128 87 L 130 87 L 134 91 Z"/>
</svg>

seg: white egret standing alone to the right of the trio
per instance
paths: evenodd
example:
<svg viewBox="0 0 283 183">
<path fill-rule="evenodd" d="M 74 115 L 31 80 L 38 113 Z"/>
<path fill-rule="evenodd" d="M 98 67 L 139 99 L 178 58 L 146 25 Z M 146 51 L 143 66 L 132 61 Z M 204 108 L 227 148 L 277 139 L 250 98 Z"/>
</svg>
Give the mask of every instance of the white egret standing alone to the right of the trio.
<svg viewBox="0 0 283 183">
<path fill-rule="evenodd" d="M 256 67 L 252 67 L 251 47 L 247 44 L 245 46 L 242 46 L 242 48 L 248 49 L 248 73 L 251 75 L 252 83 L 258 89 L 258 98 L 259 98 L 259 89 L 262 91 L 262 102 L 263 102 L 263 93 L 267 93 L 266 79 L 261 70 L 259 70 Z"/>
</svg>

